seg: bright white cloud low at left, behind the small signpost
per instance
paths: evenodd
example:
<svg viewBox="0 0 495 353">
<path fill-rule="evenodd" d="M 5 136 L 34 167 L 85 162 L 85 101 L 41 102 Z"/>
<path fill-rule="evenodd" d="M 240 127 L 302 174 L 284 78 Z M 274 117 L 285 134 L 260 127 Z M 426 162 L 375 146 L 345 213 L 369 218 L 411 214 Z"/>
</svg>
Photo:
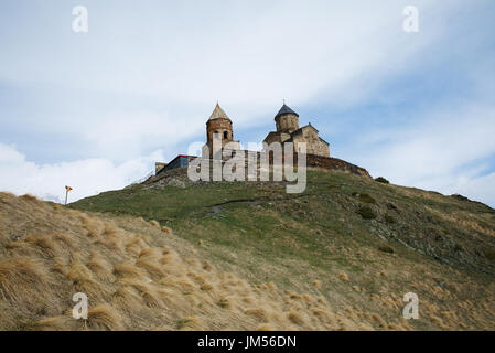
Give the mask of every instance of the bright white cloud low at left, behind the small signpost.
<svg viewBox="0 0 495 353">
<path fill-rule="evenodd" d="M 106 159 L 39 165 L 26 161 L 14 147 L 0 143 L 0 190 L 63 202 L 64 186 L 69 185 L 74 189 L 69 201 L 76 201 L 125 188 L 146 176 L 159 160 L 163 160 L 161 150 L 117 165 Z"/>
</svg>

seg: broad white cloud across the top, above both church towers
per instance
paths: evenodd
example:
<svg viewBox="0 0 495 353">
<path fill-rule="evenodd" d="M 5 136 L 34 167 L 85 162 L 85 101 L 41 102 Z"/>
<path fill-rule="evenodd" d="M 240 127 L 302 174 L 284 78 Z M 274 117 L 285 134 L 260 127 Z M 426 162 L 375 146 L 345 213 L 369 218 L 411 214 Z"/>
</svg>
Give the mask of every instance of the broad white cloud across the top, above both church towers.
<svg viewBox="0 0 495 353">
<path fill-rule="evenodd" d="M 282 98 L 303 104 L 323 90 L 327 100 L 342 104 L 365 94 L 363 74 L 410 66 L 415 54 L 449 30 L 442 17 L 458 1 L 417 1 L 424 31 L 416 35 L 402 31 L 407 4 L 208 1 L 160 2 L 137 10 L 119 3 L 115 17 L 114 7 L 89 1 L 87 35 L 46 29 L 39 35 L 53 35 L 53 51 L 34 38 L 25 39 L 31 46 L 9 42 L 3 61 L 15 64 L 0 67 L 0 77 L 158 95 L 180 104 L 220 99 L 272 105 Z M 55 13 L 41 9 L 49 10 Z M 20 60 L 21 54 L 35 54 L 35 65 Z M 347 85 L 354 89 L 343 89 Z"/>
</svg>

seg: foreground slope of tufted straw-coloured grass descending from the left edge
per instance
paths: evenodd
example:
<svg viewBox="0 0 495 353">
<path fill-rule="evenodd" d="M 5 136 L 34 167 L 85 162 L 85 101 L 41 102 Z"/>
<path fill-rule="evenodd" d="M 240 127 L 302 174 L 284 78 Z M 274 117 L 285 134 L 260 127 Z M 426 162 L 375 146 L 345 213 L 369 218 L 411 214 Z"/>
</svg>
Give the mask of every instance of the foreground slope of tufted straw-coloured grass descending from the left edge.
<svg viewBox="0 0 495 353">
<path fill-rule="evenodd" d="M 0 221 L 0 330 L 369 328 L 323 298 L 219 271 L 155 222 L 7 193 Z M 76 292 L 88 296 L 87 320 L 72 318 Z"/>
</svg>

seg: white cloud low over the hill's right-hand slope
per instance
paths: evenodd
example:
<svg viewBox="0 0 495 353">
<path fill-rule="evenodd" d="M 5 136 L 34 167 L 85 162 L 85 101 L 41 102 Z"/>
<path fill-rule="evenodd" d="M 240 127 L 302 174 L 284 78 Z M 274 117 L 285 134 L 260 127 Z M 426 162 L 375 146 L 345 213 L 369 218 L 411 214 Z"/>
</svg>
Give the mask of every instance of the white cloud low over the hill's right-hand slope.
<svg viewBox="0 0 495 353">
<path fill-rule="evenodd" d="M 356 150 L 367 152 L 356 160 L 394 183 L 461 193 L 494 206 L 494 174 L 486 174 L 494 132 L 494 107 L 430 111 L 413 126 L 365 136 Z"/>
</svg>

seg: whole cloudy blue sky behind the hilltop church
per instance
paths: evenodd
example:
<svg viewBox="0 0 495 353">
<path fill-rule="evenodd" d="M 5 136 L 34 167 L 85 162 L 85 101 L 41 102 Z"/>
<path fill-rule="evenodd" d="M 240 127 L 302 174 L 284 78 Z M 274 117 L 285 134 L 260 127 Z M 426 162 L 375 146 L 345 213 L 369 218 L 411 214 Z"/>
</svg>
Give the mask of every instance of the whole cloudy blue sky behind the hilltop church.
<svg viewBox="0 0 495 353">
<path fill-rule="evenodd" d="M 1 1 L 0 191 L 121 189 L 204 142 L 217 101 L 247 145 L 286 99 L 332 157 L 495 207 L 494 23 L 491 0 Z"/>
</svg>

